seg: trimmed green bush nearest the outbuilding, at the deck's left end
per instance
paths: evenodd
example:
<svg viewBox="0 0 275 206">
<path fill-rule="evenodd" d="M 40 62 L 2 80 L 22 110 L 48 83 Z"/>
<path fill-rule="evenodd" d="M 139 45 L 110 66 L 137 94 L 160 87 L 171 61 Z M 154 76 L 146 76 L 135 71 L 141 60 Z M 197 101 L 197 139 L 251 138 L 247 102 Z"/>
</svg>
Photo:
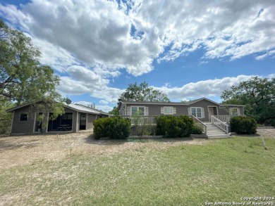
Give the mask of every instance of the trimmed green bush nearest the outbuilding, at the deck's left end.
<svg viewBox="0 0 275 206">
<path fill-rule="evenodd" d="M 130 135 L 130 120 L 106 117 L 94 121 L 94 138 L 126 139 Z"/>
</svg>

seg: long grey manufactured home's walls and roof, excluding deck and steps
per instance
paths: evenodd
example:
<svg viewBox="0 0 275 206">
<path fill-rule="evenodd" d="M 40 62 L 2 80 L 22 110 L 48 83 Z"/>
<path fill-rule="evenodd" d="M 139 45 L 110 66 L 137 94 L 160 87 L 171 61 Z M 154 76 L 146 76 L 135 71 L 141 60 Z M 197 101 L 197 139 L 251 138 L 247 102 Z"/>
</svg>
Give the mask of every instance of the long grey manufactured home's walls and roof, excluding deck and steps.
<svg viewBox="0 0 275 206">
<path fill-rule="evenodd" d="M 184 103 L 152 101 L 120 101 L 118 103 L 121 116 L 134 116 L 137 112 L 141 116 L 189 115 L 202 122 L 210 122 L 212 115 L 244 115 L 244 107 L 245 105 L 223 105 L 208 98 Z"/>
</svg>

